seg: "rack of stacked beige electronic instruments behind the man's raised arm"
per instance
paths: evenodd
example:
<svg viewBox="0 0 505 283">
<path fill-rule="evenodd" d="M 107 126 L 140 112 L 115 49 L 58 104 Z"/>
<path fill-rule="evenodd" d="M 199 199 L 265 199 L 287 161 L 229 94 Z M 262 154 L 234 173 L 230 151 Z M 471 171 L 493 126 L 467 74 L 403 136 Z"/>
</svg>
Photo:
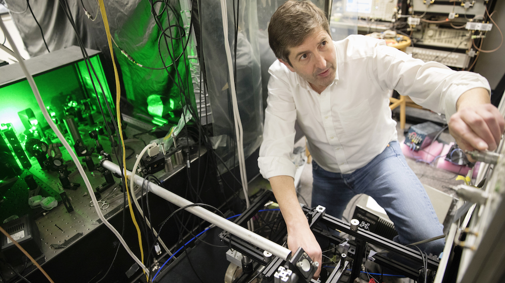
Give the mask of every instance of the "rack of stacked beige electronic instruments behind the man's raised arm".
<svg viewBox="0 0 505 283">
<path fill-rule="evenodd" d="M 414 44 L 407 53 L 424 61 L 471 69 L 479 53 L 475 46 L 488 30 L 498 28 L 488 17 L 494 4 L 493 0 L 413 0 L 406 32 L 411 33 Z"/>
</svg>

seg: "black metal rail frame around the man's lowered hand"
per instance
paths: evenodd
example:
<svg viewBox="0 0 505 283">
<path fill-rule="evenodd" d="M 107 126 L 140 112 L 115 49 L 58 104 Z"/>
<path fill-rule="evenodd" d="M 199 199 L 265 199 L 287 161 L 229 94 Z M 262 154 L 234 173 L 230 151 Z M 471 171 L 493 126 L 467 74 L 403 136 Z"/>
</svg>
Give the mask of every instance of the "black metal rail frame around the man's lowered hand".
<svg viewBox="0 0 505 283">
<path fill-rule="evenodd" d="M 263 207 L 264 203 L 272 199 L 273 199 L 272 193 L 270 191 L 267 191 L 262 196 L 260 196 L 255 203 L 252 203 L 250 208 L 244 211 L 243 215 L 240 218 L 235 220 L 235 223 L 238 225 L 245 225 L 247 221 L 252 216 L 254 216 L 261 207 Z M 349 243 L 350 248 L 348 253 L 346 254 L 346 258 L 340 260 L 335 269 L 328 276 L 328 278 L 324 280 L 324 282 L 326 283 L 338 282 L 342 278 L 344 271 L 348 268 L 348 266 L 350 266 L 351 264 L 350 260 L 353 261 L 350 281 L 357 278 L 361 271 L 361 264 L 363 258 L 365 257 L 367 243 L 371 243 L 383 248 L 384 250 L 394 252 L 395 254 L 397 254 L 402 258 L 409 259 L 414 263 L 419 263 L 419 265 L 423 264 L 423 257 L 421 256 L 421 253 L 419 251 L 403 246 L 401 244 L 398 244 L 394 241 L 391 241 L 387 238 L 381 237 L 369 231 L 362 230 L 361 228 L 359 228 L 357 231 L 352 231 L 350 229 L 350 224 L 341 221 L 337 218 L 334 218 L 332 216 L 325 215 L 324 207 L 322 206 L 318 206 L 316 208 L 309 208 L 307 206 L 303 206 L 302 209 L 306 213 L 308 221 L 310 223 L 311 230 L 315 235 L 324 237 L 328 239 L 330 242 L 335 244 L 338 244 L 343 241 L 343 238 L 328 233 L 327 231 L 321 229 L 316 225 L 318 223 L 321 223 L 328 226 L 331 229 L 337 229 L 339 231 L 342 231 L 344 233 L 356 237 L 356 240 L 354 242 Z M 261 273 L 262 276 L 266 278 L 273 278 L 273 276 L 281 266 L 292 267 L 289 265 L 287 261 L 279 257 L 274 257 L 270 262 L 265 261 L 263 258 L 263 250 L 258 249 L 257 247 L 251 245 L 250 243 L 247 243 L 246 241 L 231 236 L 230 233 L 223 232 L 220 234 L 220 237 L 226 244 L 229 244 L 234 249 L 257 261 L 257 263 L 259 263 L 257 267 L 265 266 L 263 270 L 261 270 Z M 375 262 L 383 266 L 386 266 L 398 272 L 399 274 L 403 274 L 409 278 L 420 280 L 421 277 L 424 276 L 424 273 L 421 274 L 421 272 L 416 268 L 393 260 L 387 256 L 376 254 L 374 255 L 374 258 Z M 428 257 L 427 263 L 429 270 L 434 271 L 438 268 L 439 262 L 436 259 Z M 252 273 L 249 278 L 251 278 L 251 276 Z M 301 278 L 299 281 L 307 281 L 313 283 L 318 282 L 314 279 L 301 280 Z"/>
</svg>

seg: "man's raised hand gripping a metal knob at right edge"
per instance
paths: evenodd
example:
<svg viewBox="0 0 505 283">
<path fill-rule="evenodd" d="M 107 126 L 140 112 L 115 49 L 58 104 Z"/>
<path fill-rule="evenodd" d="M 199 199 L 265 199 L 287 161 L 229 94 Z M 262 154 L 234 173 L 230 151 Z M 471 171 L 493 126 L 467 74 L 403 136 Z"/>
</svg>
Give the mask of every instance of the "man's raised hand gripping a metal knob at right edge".
<svg viewBox="0 0 505 283">
<path fill-rule="evenodd" d="M 482 91 L 483 90 L 483 91 Z M 458 100 L 458 112 L 449 120 L 449 132 L 463 151 L 493 151 L 497 148 L 505 120 L 489 103 L 485 89 L 472 89 Z"/>
</svg>

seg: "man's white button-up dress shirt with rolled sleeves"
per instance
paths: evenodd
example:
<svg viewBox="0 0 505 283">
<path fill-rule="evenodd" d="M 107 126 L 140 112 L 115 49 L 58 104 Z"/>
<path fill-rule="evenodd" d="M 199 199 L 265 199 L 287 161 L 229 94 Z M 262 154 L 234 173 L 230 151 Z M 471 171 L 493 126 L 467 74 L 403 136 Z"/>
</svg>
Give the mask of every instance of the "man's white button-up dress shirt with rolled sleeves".
<svg viewBox="0 0 505 283">
<path fill-rule="evenodd" d="M 294 123 L 324 170 L 354 172 L 397 139 L 389 94 L 396 90 L 417 104 L 450 117 L 465 92 L 481 87 L 482 76 L 456 72 L 437 62 L 414 59 L 384 40 L 351 35 L 333 42 L 335 80 L 321 94 L 276 60 L 269 69 L 268 100 L 258 165 L 264 178 L 294 177 Z"/>
</svg>

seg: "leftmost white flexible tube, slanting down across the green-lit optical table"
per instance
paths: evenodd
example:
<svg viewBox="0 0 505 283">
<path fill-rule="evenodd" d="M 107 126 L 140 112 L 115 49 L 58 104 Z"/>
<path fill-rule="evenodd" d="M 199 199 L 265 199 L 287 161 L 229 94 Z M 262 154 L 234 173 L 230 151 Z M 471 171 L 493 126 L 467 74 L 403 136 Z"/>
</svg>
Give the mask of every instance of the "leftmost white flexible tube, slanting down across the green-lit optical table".
<svg viewBox="0 0 505 283">
<path fill-rule="evenodd" d="M 94 192 L 93 192 L 93 188 L 91 187 L 91 183 L 89 183 L 89 179 L 86 176 L 86 173 L 84 172 L 84 169 L 82 168 L 82 165 L 79 162 L 79 159 L 75 155 L 72 147 L 70 147 L 70 145 L 68 144 L 68 142 L 65 139 L 65 137 L 63 136 L 63 134 L 60 132 L 60 130 L 58 129 L 58 127 L 56 126 L 56 124 L 51 119 L 51 116 L 49 116 L 49 113 L 47 113 L 47 110 L 45 108 L 44 102 L 42 101 L 42 97 L 40 96 L 40 93 L 38 91 L 37 85 L 35 84 L 35 81 L 33 80 L 33 76 L 28 72 L 28 69 L 26 68 L 26 65 L 24 63 L 24 59 L 19 54 L 19 50 L 16 47 L 16 45 L 14 44 L 14 41 L 12 40 L 11 35 L 7 31 L 7 29 L 6 29 L 5 25 L 4 25 L 4 21 L 2 21 L 1 17 L 0 17 L 0 28 L 2 28 L 2 31 L 4 32 L 5 36 L 7 37 L 7 40 L 11 44 L 11 47 L 12 47 L 12 50 L 14 51 L 14 53 L 15 53 L 16 59 L 18 59 L 19 65 L 21 66 L 21 69 L 23 70 L 23 73 L 26 76 L 26 80 L 30 84 L 30 87 L 31 87 L 31 89 L 33 91 L 33 95 L 35 96 L 35 99 L 37 100 L 38 106 L 40 107 L 40 111 L 42 111 L 42 115 L 44 116 L 45 120 L 47 121 L 47 123 L 49 124 L 49 126 L 51 127 L 51 129 L 53 129 L 53 131 L 56 133 L 56 135 L 60 139 L 60 142 L 63 144 L 63 146 L 65 147 L 65 149 L 70 154 L 70 157 L 72 158 L 72 161 L 74 161 L 75 165 L 77 166 L 77 170 L 81 174 L 82 179 L 84 180 L 84 184 L 86 185 L 86 188 L 88 189 L 89 196 L 91 197 L 91 200 L 93 201 L 93 205 L 94 205 L 94 208 L 96 210 L 96 214 L 98 215 L 98 217 L 100 218 L 100 220 L 102 220 L 104 222 L 104 224 L 114 233 L 114 235 L 116 235 L 116 237 L 119 239 L 119 241 L 121 242 L 121 244 L 123 245 L 123 247 L 125 248 L 125 250 L 128 252 L 128 254 L 133 258 L 133 260 L 140 267 L 142 267 L 142 269 L 145 271 L 145 273 L 148 276 L 149 275 L 149 269 L 146 268 L 142 264 L 142 262 L 135 256 L 135 254 L 128 247 L 128 244 L 126 244 L 126 242 L 123 239 L 123 237 L 121 237 L 121 234 L 119 234 L 119 232 L 114 228 L 114 226 L 112 226 L 107 221 L 107 219 L 102 214 L 102 211 L 100 211 L 98 202 L 96 201 L 96 197 L 95 197 Z"/>
</svg>

